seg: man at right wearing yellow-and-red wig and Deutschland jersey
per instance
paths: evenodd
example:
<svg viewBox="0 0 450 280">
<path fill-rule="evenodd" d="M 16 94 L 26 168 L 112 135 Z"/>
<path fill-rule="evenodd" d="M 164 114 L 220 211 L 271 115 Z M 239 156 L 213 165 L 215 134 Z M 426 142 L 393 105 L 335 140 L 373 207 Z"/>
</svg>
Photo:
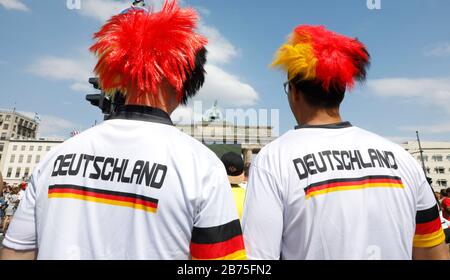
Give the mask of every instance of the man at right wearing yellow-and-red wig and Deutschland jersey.
<svg viewBox="0 0 450 280">
<path fill-rule="evenodd" d="M 400 146 L 341 119 L 370 56 L 357 39 L 299 26 L 274 67 L 298 122 L 252 163 L 250 259 L 448 259 L 425 174 Z"/>
</svg>

